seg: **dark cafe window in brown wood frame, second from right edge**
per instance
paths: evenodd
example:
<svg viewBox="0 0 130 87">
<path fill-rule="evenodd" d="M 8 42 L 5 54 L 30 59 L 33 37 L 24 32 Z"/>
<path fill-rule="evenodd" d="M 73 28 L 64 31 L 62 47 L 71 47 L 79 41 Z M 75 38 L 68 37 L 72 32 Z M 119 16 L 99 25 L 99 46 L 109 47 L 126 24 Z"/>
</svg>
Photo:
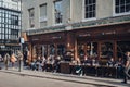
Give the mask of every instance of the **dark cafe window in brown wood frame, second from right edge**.
<svg viewBox="0 0 130 87">
<path fill-rule="evenodd" d="M 101 58 L 112 58 L 113 57 L 113 42 L 102 42 L 101 44 Z"/>
</svg>

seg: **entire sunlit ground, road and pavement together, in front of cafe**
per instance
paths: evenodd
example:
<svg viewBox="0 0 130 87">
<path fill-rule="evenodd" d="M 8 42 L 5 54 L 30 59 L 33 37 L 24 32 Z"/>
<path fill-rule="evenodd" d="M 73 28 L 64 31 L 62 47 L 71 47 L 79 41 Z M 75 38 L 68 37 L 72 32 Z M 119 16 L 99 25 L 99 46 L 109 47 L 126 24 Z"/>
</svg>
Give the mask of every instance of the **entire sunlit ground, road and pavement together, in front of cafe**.
<svg viewBox="0 0 130 87">
<path fill-rule="evenodd" d="M 0 87 L 130 87 L 130 80 L 128 84 L 121 84 L 122 79 L 30 70 L 18 72 L 16 65 L 14 69 L 5 70 L 3 63 L 0 63 L 0 66 L 2 67 L 0 70 Z"/>
</svg>

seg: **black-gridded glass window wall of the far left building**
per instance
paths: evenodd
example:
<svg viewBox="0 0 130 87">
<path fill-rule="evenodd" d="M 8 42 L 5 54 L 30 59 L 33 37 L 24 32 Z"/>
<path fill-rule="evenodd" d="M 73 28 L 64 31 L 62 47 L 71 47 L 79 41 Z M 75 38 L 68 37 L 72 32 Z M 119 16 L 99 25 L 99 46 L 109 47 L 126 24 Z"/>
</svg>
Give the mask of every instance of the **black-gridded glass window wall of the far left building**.
<svg viewBox="0 0 130 87">
<path fill-rule="evenodd" d="M 0 11 L 0 39 L 2 44 L 9 44 L 13 42 L 18 39 L 20 35 L 20 13 L 9 11 L 9 10 L 2 10 Z"/>
</svg>

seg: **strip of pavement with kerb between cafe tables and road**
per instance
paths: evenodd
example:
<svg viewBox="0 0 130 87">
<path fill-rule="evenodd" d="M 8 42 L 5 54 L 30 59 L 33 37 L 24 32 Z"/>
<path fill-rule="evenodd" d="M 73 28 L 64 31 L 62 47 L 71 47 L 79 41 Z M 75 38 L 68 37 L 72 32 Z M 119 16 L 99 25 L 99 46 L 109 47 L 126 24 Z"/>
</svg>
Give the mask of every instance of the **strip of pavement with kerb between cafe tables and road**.
<svg viewBox="0 0 130 87">
<path fill-rule="evenodd" d="M 51 73 L 51 72 L 41 72 L 41 71 L 31 71 L 31 70 L 22 70 L 21 72 L 18 72 L 18 67 L 15 69 L 9 67 L 8 70 L 2 69 L 0 70 L 0 72 L 22 75 L 22 76 L 32 76 L 32 77 L 48 78 L 54 80 L 89 84 L 89 85 L 95 85 L 98 87 L 130 87 L 130 79 L 128 80 L 128 84 L 122 84 L 121 83 L 122 79 L 116 79 L 116 78 L 79 76 L 72 74 L 61 74 L 61 73 Z"/>
</svg>

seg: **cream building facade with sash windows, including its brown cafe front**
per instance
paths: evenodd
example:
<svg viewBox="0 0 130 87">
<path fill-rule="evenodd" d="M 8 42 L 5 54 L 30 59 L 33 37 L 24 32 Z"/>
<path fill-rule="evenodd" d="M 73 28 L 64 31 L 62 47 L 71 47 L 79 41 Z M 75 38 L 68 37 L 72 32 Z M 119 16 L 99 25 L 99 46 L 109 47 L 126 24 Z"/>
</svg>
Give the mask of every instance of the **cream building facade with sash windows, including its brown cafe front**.
<svg viewBox="0 0 130 87">
<path fill-rule="evenodd" d="M 70 51 L 74 59 L 117 60 L 130 50 L 130 0 L 23 0 L 23 4 L 30 59 Z"/>
</svg>

